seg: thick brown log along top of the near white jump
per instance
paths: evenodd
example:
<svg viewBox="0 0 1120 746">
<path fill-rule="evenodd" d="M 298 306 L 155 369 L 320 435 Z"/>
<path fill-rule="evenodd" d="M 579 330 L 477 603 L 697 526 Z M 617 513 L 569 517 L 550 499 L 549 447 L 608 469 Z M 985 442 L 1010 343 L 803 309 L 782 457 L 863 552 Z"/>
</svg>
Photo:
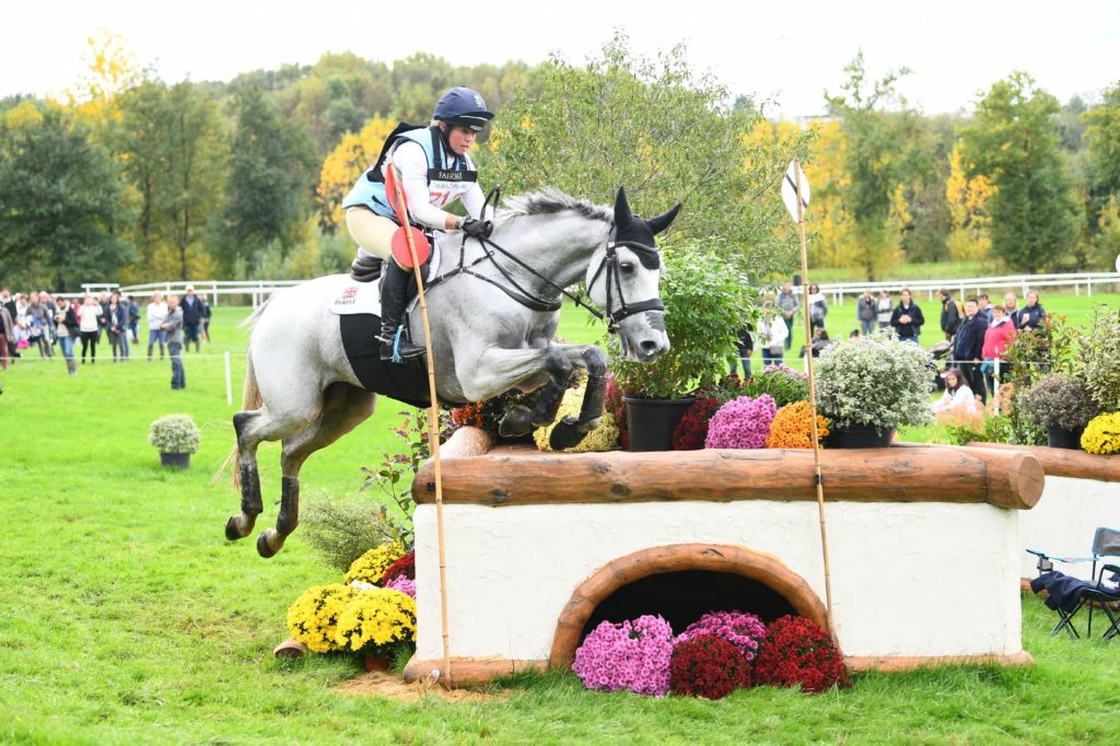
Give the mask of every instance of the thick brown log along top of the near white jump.
<svg viewBox="0 0 1120 746">
<path fill-rule="evenodd" d="M 445 459 L 445 503 L 816 500 L 808 449 L 542 454 L 503 448 L 467 456 L 478 450 L 456 449 L 460 457 Z M 830 502 L 990 503 L 1015 510 L 1033 507 L 1044 481 L 1038 458 L 1028 453 L 937 446 L 824 450 L 821 472 Z M 433 479 L 428 464 L 412 483 L 418 503 L 435 501 Z"/>
</svg>

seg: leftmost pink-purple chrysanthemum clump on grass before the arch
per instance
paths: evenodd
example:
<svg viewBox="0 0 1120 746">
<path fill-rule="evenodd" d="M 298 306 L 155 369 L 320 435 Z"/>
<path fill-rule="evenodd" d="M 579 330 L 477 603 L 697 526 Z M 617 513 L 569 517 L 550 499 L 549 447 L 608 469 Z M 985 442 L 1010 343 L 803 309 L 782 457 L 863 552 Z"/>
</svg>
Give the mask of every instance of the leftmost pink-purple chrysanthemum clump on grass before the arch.
<svg viewBox="0 0 1120 746">
<path fill-rule="evenodd" d="M 604 621 L 584 638 L 571 670 L 588 689 L 663 697 L 674 643 L 673 630 L 661 616 Z"/>
</svg>

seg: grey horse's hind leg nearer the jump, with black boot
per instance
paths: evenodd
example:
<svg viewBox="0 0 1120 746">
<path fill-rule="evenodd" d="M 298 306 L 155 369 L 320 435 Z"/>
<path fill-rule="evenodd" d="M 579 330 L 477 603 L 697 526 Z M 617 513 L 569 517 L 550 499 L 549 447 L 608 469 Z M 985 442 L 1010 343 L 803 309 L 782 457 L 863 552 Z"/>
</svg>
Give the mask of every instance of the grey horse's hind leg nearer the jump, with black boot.
<svg viewBox="0 0 1120 746">
<path fill-rule="evenodd" d="M 280 512 L 274 529 L 265 529 L 256 538 L 261 557 L 272 557 L 299 523 L 299 470 L 308 456 L 326 448 L 373 413 L 376 397 L 345 383 L 334 383 L 324 393 L 323 414 L 297 435 L 284 438 L 280 467 L 283 474 Z"/>
</svg>

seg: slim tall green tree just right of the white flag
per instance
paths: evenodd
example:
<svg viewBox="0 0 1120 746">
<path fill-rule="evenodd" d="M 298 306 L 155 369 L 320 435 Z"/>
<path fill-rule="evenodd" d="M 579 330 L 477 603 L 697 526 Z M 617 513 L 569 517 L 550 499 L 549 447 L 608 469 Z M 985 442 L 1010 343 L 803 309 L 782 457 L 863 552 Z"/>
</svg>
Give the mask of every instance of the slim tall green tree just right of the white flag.
<svg viewBox="0 0 1120 746">
<path fill-rule="evenodd" d="M 911 221 L 900 204 L 904 192 L 914 171 L 931 170 L 932 159 L 918 147 L 917 113 L 895 90 L 909 71 L 892 71 L 869 82 L 860 52 L 844 72 L 843 93 L 824 95 L 847 141 L 848 178 L 834 188 L 852 221 L 847 254 L 874 280 L 899 259 L 902 232 Z"/>
</svg>

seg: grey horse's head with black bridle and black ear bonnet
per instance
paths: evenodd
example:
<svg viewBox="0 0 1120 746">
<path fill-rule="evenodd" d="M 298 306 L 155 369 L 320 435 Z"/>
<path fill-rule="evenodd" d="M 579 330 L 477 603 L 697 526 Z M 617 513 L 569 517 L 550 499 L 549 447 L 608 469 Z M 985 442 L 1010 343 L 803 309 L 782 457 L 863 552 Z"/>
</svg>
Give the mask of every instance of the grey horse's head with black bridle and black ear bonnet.
<svg viewBox="0 0 1120 746">
<path fill-rule="evenodd" d="M 643 220 L 631 212 L 626 192 L 615 197 L 615 227 L 587 268 L 587 295 L 607 313 L 623 354 L 651 363 L 669 351 L 665 307 L 661 302 L 661 254 L 653 236 L 673 222 L 681 206 Z"/>
</svg>

